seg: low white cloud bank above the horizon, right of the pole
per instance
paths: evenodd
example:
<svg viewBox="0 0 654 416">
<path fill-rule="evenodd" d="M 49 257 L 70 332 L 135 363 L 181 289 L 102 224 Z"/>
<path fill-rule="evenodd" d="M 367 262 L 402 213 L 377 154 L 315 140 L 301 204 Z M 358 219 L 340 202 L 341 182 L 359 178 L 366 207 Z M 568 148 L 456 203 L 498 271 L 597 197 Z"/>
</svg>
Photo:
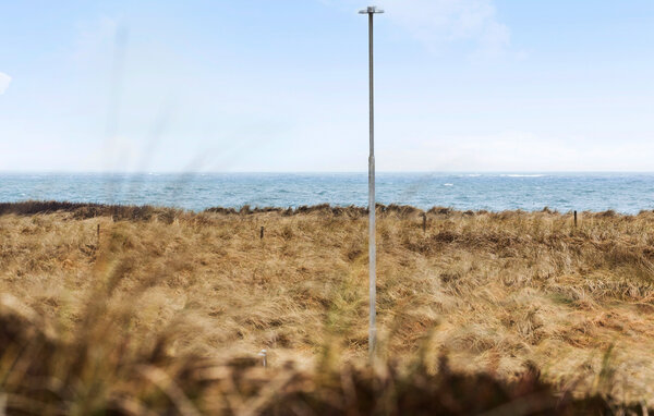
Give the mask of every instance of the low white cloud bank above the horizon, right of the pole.
<svg viewBox="0 0 654 416">
<path fill-rule="evenodd" d="M 619 148 L 584 135 L 504 131 L 480 135 L 404 139 L 401 148 L 378 146 L 379 170 L 601 172 L 651 171 L 654 144 L 623 142 Z M 409 169 L 408 169 L 409 168 Z"/>
</svg>

